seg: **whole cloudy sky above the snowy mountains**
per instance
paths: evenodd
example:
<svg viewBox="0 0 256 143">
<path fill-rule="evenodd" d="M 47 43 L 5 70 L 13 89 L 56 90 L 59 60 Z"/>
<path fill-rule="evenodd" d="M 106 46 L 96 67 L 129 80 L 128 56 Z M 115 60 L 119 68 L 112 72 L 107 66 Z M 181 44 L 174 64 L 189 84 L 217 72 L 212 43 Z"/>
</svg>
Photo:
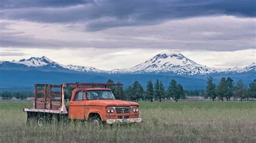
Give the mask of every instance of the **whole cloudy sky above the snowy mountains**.
<svg viewBox="0 0 256 143">
<path fill-rule="evenodd" d="M 127 68 L 180 52 L 202 65 L 256 62 L 255 1 L 2 0 L 0 60 Z"/>
</svg>

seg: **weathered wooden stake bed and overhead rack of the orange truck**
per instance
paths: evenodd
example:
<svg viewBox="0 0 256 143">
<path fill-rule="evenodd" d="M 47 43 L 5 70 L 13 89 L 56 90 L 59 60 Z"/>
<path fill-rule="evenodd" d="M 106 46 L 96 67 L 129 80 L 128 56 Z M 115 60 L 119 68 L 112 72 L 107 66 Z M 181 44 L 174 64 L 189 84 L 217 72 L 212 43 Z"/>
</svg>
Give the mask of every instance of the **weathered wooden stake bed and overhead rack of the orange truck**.
<svg viewBox="0 0 256 143">
<path fill-rule="evenodd" d="M 121 83 L 62 83 L 60 85 L 53 84 L 35 84 L 35 102 L 33 108 L 24 108 L 26 112 L 45 112 L 68 114 L 65 107 L 65 87 L 71 86 L 77 88 L 107 88 L 110 86 L 123 87 Z M 123 99 L 123 88 L 120 88 L 120 94 Z M 43 96 L 43 97 L 41 97 Z M 53 98 L 58 96 L 58 98 Z"/>
</svg>

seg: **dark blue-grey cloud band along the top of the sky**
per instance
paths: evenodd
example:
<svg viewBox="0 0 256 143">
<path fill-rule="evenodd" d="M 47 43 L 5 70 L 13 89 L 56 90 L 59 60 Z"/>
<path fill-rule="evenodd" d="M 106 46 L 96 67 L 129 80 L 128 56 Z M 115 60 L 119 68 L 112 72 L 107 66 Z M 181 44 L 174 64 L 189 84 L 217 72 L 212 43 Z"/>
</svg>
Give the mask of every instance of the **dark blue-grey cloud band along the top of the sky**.
<svg viewBox="0 0 256 143">
<path fill-rule="evenodd" d="M 153 25 L 165 20 L 208 15 L 255 17 L 255 1 L 247 0 L 106 0 L 1 2 L 2 19 L 43 23 L 86 23 L 87 31 L 111 27 Z"/>
</svg>

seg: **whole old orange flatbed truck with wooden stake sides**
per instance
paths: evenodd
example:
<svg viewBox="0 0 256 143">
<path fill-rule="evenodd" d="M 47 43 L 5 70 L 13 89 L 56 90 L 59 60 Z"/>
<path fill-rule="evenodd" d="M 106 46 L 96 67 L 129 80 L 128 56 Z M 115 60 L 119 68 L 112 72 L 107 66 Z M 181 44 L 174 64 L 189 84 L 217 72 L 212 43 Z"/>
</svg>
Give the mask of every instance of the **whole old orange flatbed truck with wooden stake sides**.
<svg viewBox="0 0 256 143">
<path fill-rule="evenodd" d="M 66 86 L 73 89 L 68 106 L 64 102 Z M 88 120 L 92 124 L 142 123 L 142 119 L 139 118 L 139 104 L 117 100 L 111 89 L 107 88 L 110 86 L 123 86 L 123 84 L 35 84 L 33 108 L 25 108 L 24 111 L 28 114 L 28 121 L 35 120 L 37 125 L 66 119 Z M 123 97 L 123 91 L 120 92 Z"/>
</svg>

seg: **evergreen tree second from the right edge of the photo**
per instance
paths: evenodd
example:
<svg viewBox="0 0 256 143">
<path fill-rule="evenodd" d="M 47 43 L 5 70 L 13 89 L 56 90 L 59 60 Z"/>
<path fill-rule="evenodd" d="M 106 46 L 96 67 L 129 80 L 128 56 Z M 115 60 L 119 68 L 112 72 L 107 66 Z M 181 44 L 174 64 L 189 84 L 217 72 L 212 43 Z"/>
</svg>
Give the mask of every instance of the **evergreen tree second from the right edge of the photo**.
<svg viewBox="0 0 256 143">
<path fill-rule="evenodd" d="M 235 84 L 233 94 L 235 98 L 240 98 L 240 101 L 246 98 L 246 88 L 242 80 L 238 80 Z"/>
</svg>

